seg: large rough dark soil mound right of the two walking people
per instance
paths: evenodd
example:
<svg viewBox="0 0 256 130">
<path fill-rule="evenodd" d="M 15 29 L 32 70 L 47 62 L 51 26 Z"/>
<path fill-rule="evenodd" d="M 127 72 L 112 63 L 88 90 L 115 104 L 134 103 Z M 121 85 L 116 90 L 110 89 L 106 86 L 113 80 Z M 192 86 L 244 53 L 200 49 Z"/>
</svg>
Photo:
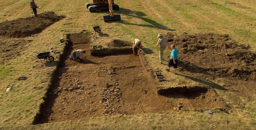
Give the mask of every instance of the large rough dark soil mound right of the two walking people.
<svg viewBox="0 0 256 130">
<path fill-rule="evenodd" d="M 181 67 L 221 77 L 256 79 L 256 54 L 228 35 L 199 33 L 179 36 L 167 33 L 168 41 L 179 49 Z"/>
</svg>

